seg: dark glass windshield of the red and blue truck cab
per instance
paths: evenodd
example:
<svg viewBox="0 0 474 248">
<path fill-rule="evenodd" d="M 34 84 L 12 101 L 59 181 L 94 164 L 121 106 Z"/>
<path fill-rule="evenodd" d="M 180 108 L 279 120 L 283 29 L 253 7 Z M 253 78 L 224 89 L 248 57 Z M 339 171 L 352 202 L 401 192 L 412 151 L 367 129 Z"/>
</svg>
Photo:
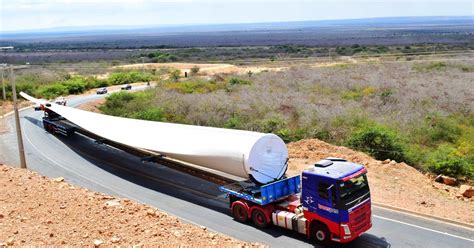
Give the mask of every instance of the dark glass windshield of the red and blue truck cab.
<svg viewBox="0 0 474 248">
<path fill-rule="evenodd" d="M 365 196 L 369 192 L 369 184 L 367 182 L 367 176 L 360 175 L 358 177 L 351 178 L 347 181 L 339 182 L 340 201 L 345 205 L 350 204 L 351 201 Z"/>
</svg>

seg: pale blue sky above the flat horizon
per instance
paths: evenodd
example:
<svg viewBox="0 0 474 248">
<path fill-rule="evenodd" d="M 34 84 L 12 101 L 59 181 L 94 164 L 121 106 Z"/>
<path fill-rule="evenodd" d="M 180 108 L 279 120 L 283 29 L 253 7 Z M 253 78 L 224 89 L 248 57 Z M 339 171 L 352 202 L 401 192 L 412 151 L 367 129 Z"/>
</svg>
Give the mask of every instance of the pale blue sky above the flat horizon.
<svg viewBox="0 0 474 248">
<path fill-rule="evenodd" d="M 473 16 L 473 0 L 0 0 L 0 31 Z"/>
</svg>

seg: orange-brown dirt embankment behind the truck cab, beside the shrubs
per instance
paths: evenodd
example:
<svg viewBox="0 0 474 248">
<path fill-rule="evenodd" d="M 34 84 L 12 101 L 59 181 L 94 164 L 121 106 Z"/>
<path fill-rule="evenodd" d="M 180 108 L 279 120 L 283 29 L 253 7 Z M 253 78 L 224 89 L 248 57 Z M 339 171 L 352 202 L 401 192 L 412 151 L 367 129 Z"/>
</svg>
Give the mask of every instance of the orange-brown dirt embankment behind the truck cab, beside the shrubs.
<svg viewBox="0 0 474 248">
<path fill-rule="evenodd" d="M 374 202 L 474 224 L 474 198 L 460 196 L 457 187 L 436 183 L 405 163 L 384 164 L 365 153 L 316 139 L 290 143 L 288 149 L 290 174 L 301 173 L 326 157 L 344 158 L 367 167 Z"/>
</svg>

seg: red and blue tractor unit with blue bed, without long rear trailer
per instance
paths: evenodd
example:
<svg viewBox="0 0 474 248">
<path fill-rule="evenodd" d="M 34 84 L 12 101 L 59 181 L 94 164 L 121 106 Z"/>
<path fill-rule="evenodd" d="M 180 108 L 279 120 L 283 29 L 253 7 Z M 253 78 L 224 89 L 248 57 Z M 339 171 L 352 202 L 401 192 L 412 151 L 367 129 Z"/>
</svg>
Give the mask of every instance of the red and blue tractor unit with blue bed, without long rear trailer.
<svg viewBox="0 0 474 248">
<path fill-rule="evenodd" d="M 321 244 L 347 243 L 372 227 L 367 170 L 339 158 L 327 158 L 301 176 L 266 185 L 239 182 L 221 186 L 237 221 L 252 220 L 299 232 Z"/>
</svg>

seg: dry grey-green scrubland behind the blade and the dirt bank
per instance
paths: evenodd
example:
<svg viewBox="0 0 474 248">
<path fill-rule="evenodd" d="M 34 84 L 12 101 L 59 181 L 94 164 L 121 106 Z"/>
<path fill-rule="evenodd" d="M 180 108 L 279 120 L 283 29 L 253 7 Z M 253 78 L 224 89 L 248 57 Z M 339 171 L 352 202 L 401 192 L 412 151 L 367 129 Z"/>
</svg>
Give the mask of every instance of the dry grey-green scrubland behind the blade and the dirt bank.
<svg viewBox="0 0 474 248">
<path fill-rule="evenodd" d="M 472 62 L 298 66 L 281 72 L 165 80 L 108 97 L 106 114 L 318 138 L 474 179 Z"/>
</svg>

